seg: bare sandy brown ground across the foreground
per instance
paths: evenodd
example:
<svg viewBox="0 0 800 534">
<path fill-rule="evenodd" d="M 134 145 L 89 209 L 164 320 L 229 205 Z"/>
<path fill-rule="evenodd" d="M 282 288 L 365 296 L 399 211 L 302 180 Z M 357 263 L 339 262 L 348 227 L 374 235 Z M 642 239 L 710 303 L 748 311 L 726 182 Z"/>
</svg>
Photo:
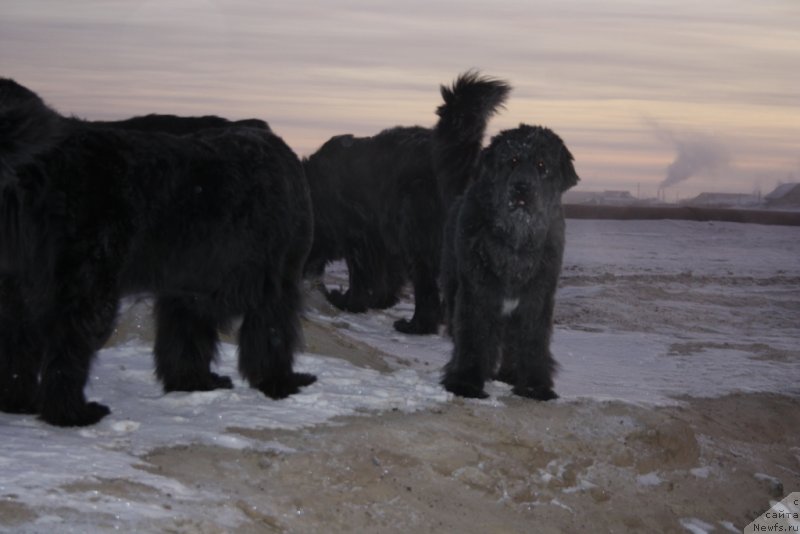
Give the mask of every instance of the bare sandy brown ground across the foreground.
<svg viewBox="0 0 800 534">
<path fill-rule="evenodd" d="M 573 287 L 597 282 L 567 276 Z M 604 283 L 606 299 L 620 305 L 653 290 L 649 283 L 637 288 L 635 280 Z M 674 287 L 673 292 L 681 300 L 691 297 Z M 599 310 L 592 303 L 608 300 L 562 301 L 558 320 L 591 328 L 581 317 L 594 324 Z M 758 311 L 761 303 L 749 301 Z M 694 320 L 680 317 L 682 309 L 670 315 L 671 327 Z M 663 307 L 652 313 L 663 316 Z M 655 317 L 633 317 L 642 324 L 632 327 L 658 324 Z M 778 321 L 773 327 L 789 326 L 782 314 L 771 317 Z M 307 323 L 305 332 L 309 351 L 389 370 L 385 355 L 335 326 Z M 89 519 L 99 531 L 182 533 L 230 531 L 217 518 L 231 511 L 244 518 L 235 530 L 252 533 L 687 532 L 698 520 L 712 532 L 741 532 L 770 500 L 800 490 L 797 396 L 735 394 L 662 407 L 456 399 L 428 411 L 365 414 L 302 431 L 232 431 L 287 450 L 181 446 L 152 451 L 140 466 L 227 500 L 188 501 L 125 480 L 64 489 L 129 498 L 172 514 L 131 525 L 98 512 Z M 55 503 L 50 510 L 32 510 L 0 501 L 0 527 L 16 531 L 48 513 L 63 518 L 61 526 L 77 514 Z M 87 515 L 80 519 L 85 522 Z"/>
</svg>

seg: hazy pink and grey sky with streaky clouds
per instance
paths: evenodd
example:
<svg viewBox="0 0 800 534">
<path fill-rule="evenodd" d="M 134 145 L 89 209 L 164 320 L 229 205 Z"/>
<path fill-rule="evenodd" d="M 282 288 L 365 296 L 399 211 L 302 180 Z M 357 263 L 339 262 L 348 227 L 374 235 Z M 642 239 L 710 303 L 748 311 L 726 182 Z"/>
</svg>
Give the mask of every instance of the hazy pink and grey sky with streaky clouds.
<svg viewBox="0 0 800 534">
<path fill-rule="evenodd" d="M 267 120 L 300 155 L 430 126 L 466 69 L 514 92 L 490 132 L 557 131 L 584 190 L 800 181 L 798 0 L 0 0 L 0 76 L 62 113 Z"/>
</svg>

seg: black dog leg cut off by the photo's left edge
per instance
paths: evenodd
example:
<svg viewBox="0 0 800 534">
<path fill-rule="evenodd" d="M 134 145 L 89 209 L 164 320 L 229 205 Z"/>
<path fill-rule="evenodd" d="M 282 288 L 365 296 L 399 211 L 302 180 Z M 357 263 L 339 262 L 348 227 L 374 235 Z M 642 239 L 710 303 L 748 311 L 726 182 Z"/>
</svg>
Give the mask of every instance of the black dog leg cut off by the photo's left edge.
<svg viewBox="0 0 800 534">
<path fill-rule="evenodd" d="M 0 277 L 0 411 L 35 413 L 43 339 L 24 304 L 19 280 Z"/>
</svg>

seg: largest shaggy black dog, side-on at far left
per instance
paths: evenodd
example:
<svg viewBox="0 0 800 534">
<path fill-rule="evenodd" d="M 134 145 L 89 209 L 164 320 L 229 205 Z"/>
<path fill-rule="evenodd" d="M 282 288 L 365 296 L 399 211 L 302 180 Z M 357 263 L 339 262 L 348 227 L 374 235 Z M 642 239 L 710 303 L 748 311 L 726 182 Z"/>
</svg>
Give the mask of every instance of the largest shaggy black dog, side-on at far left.
<svg viewBox="0 0 800 534">
<path fill-rule="evenodd" d="M 165 391 L 232 387 L 210 364 L 242 316 L 242 376 L 297 392 L 315 380 L 292 370 L 311 232 L 300 161 L 266 129 L 109 129 L 0 79 L 0 410 L 108 414 L 83 389 L 127 293 L 155 296 Z"/>
</svg>

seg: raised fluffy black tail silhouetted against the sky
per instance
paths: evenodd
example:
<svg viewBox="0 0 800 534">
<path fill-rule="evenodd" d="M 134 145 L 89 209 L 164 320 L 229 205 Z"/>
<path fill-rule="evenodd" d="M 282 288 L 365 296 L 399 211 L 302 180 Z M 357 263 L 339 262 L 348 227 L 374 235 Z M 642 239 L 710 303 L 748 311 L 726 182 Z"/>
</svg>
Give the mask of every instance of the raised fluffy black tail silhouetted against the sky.
<svg viewBox="0 0 800 534">
<path fill-rule="evenodd" d="M 477 71 L 461 74 L 452 87 L 441 87 L 444 104 L 436 114 L 433 159 L 445 207 L 469 185 L 481 153 L 489 119 L 505 103 L 511 86 L 481 76 Z"/>
</svg>

